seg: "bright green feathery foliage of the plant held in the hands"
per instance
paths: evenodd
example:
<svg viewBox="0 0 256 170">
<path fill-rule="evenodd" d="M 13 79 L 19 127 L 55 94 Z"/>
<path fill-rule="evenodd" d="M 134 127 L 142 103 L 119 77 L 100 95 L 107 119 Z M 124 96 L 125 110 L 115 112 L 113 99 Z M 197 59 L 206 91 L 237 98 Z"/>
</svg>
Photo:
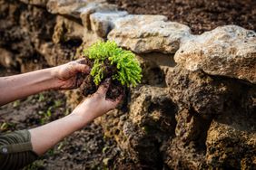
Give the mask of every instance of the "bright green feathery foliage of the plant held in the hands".
<svg viewBox="0 0 256 170">
<path fill-rule="evenodd" d="M 142 68 L 135 54 L 119 48 L 115 42 L 96 42 L 89 49 L 84 51 L 84 55 L 94 61 L 91 75 L 94 83 L 99 85 L 104 77 L 104 61 L 110 61 L 115 66 L 117 72 L 113 75 L 113 80 L 119 80 L 122 85 L 135 87 L 142 79 Z"/>
</svg>

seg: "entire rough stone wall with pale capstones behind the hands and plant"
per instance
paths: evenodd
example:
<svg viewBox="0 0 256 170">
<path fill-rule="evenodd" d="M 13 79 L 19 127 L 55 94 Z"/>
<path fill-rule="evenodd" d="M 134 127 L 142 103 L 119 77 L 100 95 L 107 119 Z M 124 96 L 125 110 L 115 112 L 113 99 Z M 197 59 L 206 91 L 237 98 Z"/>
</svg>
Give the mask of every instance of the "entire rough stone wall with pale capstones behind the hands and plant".
<svg viewBox="0 0 256 170">
<path fill-rule="evenodd" d="M 227 25 L 193 35 L 165 16 L 128 14 L 105 0 L 1 0 L 0 10 L 5 67 L 58 65 L 98 40 L 136 53 L 143 83 L 126 110 L 95 120 L 136 169 L 256 168 L 255 32 Z M 81 98 L 66 95 L 72 105 Z"/>
</svg>

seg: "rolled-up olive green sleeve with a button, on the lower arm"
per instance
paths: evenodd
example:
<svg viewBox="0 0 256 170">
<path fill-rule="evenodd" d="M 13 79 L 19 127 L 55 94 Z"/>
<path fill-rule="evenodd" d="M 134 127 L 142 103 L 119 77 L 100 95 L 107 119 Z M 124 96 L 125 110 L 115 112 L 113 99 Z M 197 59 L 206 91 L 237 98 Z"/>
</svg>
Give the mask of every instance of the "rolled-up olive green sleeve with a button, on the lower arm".
<svg viewBox="0 0 256 170">
<path fill-rule="evenodd" d="M 20 169 L 36 158 L 28 130 L 0 135 L 0 169 Z"/>
</svg>

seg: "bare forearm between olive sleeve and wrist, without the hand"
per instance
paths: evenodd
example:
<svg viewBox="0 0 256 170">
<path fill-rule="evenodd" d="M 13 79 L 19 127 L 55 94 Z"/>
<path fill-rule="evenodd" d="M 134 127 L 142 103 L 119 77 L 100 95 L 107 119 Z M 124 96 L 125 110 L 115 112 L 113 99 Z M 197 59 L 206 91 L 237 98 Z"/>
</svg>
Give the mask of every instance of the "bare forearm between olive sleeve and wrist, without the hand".
<svg viewBox="0 0 256 170">
<path fill-rule="evenodd" d="M 42 127 L 30 129 L 34 152 L 39 156 L 43 155 L 48 149 L 63 140 L 64 137 L 84 127 L 93 119 L 89 115 L 88 117 L 81 117 L 79 114 L 73 113 Z"/>
</svg>

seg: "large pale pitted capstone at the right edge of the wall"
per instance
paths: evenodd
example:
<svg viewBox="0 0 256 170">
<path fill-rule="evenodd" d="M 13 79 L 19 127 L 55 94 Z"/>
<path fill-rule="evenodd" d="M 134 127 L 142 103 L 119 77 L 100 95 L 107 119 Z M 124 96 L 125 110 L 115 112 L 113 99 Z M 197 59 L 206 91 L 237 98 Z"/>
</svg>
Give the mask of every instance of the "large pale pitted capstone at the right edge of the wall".
<svg viewBox="0 0 256 170">
<path fill-rule="evenodd" d="M 187 39 L 174 60 L 190 71 L 256 83 L 256 33 L 235 25 L 218 27 Z"/>
</svg>

